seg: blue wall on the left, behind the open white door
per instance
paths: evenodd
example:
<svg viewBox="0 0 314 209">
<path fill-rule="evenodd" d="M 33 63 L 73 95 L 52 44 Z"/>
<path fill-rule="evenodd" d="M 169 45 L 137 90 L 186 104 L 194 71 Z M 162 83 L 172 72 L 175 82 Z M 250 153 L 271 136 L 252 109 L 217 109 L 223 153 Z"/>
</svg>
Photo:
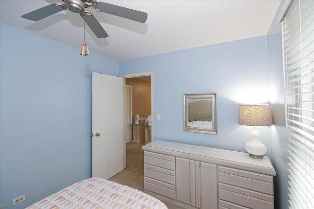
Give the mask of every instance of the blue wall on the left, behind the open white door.
<svg viewBox="0 0 314 209">
<path fill-rule="evenodd" d="M 5 23 L 0 37 L 0 203 L 20 209 L 91 176 L 91 73 L 119 63 Z"/>
</svg>

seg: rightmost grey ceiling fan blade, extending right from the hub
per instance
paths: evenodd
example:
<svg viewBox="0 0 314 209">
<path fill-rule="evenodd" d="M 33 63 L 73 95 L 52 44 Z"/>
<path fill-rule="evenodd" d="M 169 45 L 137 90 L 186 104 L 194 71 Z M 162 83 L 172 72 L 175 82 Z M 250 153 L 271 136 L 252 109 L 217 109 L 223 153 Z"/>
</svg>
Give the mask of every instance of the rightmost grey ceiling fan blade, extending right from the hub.
<svg viewBox="0 0 314 209">
<path fill-rule="evenodd" d="M 101 2 L 98 0 L 93 0 L 92 6 L 95 10 L 99 12 L 105 12 L 111 15 L 129 19 L 132 21 L 145 23 L 147 20 L 147 13 L 125 8 L 122 6 L 117 6 L 110 3 Z"/>
</svg>

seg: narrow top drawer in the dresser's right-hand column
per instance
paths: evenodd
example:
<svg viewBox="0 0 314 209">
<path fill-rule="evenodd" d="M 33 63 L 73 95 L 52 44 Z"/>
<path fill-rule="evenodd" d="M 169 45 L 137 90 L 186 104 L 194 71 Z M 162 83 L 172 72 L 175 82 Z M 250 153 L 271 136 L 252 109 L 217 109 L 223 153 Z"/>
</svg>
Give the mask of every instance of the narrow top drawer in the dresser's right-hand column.
<svg viewBox="0 0 314 209">
<path fill-rule="evenodd" d="M 229 167 L 223 167 L 223 166 L 219 166 L 218 171 L 223 172 L 223 173 L 233 174 L 236 176 L 242 176 L 242 177 L 247 177 L 250 179 L 256 179 L 256 180 L 260 180 L 260 181 L 264 181 L 264 182 L 273 183 L 273 177 L 272 176 L 267 176 L 267 175 L 260 174 L 260 173 L 253 173 L 250 171 L 238 170 L 235 168 L 229 168 Z"/>
</svg>

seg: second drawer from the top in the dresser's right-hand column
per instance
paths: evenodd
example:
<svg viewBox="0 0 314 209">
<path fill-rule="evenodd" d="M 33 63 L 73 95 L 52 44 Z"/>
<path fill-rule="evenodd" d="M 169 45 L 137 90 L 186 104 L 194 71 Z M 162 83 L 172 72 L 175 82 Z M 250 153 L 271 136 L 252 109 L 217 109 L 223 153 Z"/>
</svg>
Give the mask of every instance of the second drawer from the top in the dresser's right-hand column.
<svg viewBox="0 0 314 209">
<path fill-rule="evenodd" d="M 259 181 L 222 172 L 218 172 L 218 182 L 262 192 L 269 195 L 274 195 L 273 183 L 269 182 Z"/>
</svg>

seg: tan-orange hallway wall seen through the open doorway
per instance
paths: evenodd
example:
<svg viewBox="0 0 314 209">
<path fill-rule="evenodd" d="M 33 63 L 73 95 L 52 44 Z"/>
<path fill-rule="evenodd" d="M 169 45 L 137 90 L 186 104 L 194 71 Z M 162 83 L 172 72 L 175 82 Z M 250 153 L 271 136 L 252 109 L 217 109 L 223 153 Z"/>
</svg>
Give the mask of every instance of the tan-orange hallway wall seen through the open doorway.
<svg viewBox="0 0 314 209">
<path fill-rule="evenodd" d="M 151 82 L 138 78 L 127 78 L 126 85 L 132 86 L 132 122 L 135 115 L 151 115 Z"/>
</svg>

